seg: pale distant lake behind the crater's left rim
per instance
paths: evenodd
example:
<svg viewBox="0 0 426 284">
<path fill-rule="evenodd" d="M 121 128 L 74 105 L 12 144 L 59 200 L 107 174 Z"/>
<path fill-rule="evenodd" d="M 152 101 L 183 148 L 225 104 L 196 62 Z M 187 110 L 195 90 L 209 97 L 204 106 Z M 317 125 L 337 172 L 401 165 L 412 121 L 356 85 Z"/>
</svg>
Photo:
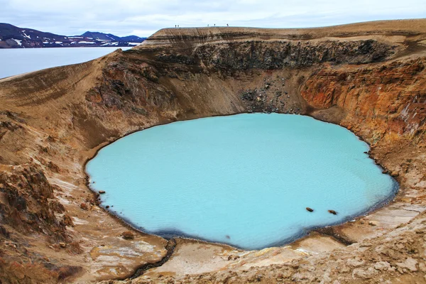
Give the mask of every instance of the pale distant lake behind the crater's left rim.
<svg viewBox="0 0 426 284">
<path fill-rule="evenodd" d="M 118 48 L 0 49 L 0 78 L 100 58 Z M 128 50 L 130 48 L 121 48 Z"/>
</svg>

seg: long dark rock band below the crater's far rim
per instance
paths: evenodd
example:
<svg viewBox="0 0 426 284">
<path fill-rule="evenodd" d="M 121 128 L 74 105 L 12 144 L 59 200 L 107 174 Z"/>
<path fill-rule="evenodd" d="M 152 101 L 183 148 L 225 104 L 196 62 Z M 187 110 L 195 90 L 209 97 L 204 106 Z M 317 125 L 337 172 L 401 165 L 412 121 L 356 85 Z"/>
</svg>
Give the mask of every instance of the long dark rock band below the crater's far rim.
<svg viewBox="0 0 426 284">
<path fill-rule="evenodd" d="M 194 57 L 209 70 L 273 70 L 284 67 L 309 67 L 314 64 L 366 64 L 383 61 L 394 53 L 394 47 L 376 40 L 341 42 L 249 41 L 201 45 Z M 190 60 L 191 62 L 191 60 Z"/>
</svg>

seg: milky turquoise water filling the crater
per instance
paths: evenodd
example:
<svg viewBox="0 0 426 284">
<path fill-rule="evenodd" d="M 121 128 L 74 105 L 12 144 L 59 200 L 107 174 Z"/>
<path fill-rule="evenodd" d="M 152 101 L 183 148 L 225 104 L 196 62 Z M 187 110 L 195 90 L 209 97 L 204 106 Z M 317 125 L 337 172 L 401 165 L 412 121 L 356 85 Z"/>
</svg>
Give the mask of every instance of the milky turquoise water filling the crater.
<svg viewBox="0 0 426 284">
<path fill-rule="evenodd" d="M 138 131 L 102 148 L 87 173 L 107 192 L 102 204 L 143 231 L 262 249 L 392 197 L 395 182 L 364 151 L 308 116 L 239 114 Z"/>
</svg>

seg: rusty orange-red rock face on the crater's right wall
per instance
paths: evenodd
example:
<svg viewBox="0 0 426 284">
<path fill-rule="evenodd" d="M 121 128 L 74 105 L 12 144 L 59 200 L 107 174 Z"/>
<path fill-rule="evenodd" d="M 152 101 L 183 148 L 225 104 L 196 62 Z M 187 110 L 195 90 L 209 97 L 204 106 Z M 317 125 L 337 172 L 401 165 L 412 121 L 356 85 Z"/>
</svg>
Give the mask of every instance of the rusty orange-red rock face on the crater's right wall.
<svg viewBox="0 0 426 284">
<path fill-rule="evenodd" d="M 425 131 L 425 59 L 367 67 L 324 68 L 300 94 L 315 109 L 337 106 L 342 125 L 374 129 L 380 137 L 418 136 Z M 370 127 L 373 126 L 373 127 Z"/>
</svg>

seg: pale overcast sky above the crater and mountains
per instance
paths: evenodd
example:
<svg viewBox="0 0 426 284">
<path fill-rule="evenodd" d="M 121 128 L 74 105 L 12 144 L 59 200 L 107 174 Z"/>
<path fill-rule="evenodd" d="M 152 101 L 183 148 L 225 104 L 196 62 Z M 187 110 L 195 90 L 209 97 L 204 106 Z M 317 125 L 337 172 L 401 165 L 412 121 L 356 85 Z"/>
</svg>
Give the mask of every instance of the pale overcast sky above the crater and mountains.
<svg viewBox="0 0 426 284">
<path fill-rule="evenodd" d="M 148 36 L 160 28 L 302 28 L 426 18 L 426 0 L 0 0 L 0 22 L 60 35 Z"/>
</svg>

